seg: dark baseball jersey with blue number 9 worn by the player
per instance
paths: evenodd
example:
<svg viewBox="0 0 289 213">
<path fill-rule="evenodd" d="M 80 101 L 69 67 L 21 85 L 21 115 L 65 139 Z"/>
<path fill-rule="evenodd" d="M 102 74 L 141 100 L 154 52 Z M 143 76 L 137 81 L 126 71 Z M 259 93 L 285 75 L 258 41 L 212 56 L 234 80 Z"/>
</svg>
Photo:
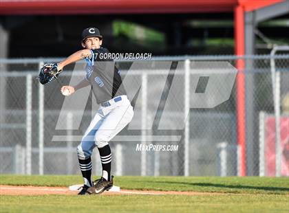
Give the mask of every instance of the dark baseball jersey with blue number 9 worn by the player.
<svg viewBox="0 0 289 213">
<path fill-rule="evenodd" d="M 107 57 L 109 51 L 103 47 L 91 51 L 91 57 L 86 58 L 86 79 L 92 86 L 96 102 L 100 104 L 116 96 L 127 95 L 114 60 Z"/>
</svg>

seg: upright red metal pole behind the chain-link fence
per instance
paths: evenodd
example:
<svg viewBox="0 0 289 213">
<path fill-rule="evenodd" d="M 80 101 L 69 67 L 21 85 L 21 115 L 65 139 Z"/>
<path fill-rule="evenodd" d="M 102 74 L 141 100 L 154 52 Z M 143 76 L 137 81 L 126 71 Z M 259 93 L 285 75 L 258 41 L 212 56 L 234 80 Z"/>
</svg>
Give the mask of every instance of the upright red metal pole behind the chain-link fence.
<svg viewBox="0 0 289 213">
<path fill-rule="evenodd" d="M 244 8 L 238 5 L 235 8 L 235 54 L 244 56 L 245 54 L 245 30 L 244 30 Z M 246 176 L 246 110 L 245 110 L 245 61 L 238 59 L 236 63 L 238 69 L 236 79 L 237 96 L 237 144 L 240 150 L 240 174 Z"/>
</svg>

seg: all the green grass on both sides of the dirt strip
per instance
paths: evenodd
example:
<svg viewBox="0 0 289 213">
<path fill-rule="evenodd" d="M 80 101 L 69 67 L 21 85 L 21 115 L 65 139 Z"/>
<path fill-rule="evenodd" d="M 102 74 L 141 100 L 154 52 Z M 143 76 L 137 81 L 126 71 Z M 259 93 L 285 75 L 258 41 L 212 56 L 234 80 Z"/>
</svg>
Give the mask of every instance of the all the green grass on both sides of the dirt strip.
<svg viewBox="0 0 289 213">
<path fill-rule="evenodd" d="M 69 186 L 79 176 L 0 175 L 0 184 Z M 221 192 L 204 195 L 1 196 L 0 212 L 288 212 L 289 179 L 271 177 L 116 177 L 138 190 Z"/>
</svg>

